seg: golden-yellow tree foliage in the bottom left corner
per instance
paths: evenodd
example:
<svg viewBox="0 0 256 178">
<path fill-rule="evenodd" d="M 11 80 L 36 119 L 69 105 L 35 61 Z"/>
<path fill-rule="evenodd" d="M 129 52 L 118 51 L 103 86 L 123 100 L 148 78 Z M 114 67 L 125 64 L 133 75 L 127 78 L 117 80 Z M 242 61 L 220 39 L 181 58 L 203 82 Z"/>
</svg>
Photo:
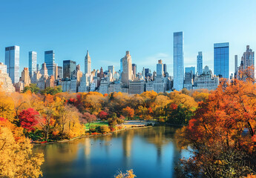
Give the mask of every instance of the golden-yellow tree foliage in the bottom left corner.
<svg viewBox="0 0 256 178">
<path fill-rule="evenodd" d="M 43 154 L 33 154 L 30 139 L 7 119 L 0 118 L 0 177 L 39 177 Z"/>
</svg>

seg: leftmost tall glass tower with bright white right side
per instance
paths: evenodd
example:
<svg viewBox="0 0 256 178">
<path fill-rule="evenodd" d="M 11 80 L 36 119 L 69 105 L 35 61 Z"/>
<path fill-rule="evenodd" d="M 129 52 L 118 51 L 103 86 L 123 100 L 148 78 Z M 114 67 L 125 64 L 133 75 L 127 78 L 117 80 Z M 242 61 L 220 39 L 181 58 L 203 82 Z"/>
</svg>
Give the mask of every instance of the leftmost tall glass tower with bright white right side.
<svg viewBox="0 0 256 178">
<path fill-rule="evenodd" d="M 19 82 L 19 46 L 5 47 L 5 65 L 12 82 Z"/>
</svg>

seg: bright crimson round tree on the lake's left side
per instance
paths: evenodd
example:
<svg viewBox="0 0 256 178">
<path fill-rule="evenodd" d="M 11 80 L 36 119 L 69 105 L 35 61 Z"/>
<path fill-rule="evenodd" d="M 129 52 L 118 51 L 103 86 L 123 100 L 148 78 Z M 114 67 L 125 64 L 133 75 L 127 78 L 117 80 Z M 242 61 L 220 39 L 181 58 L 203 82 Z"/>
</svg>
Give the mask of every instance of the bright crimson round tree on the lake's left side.
<svg viewBox="0 0 256 178">
<path fill-rule="evenodd" d="M 33 131 L 33 126 L 38 124 L 36 116 L 39 115 L 39 112 L 35 111 L 33 108 L 28 108 L 19 113 L 19 123 L 22 128 L 27 129 L 27 131 Z"/>
</svg>

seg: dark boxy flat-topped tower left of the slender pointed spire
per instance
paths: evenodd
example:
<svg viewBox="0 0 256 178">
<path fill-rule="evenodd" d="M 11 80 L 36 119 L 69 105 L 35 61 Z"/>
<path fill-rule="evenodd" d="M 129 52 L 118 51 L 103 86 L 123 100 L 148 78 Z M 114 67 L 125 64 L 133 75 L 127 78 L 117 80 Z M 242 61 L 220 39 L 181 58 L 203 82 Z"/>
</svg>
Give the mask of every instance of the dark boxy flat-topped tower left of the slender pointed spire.
<svg viewBox="0 0 256 178">
<path fill-rule="evenodd" d="M 73 79 L 76 77 L 76 62 L 71 60 L 63 61 L 63 78 Z"/>
</svg>

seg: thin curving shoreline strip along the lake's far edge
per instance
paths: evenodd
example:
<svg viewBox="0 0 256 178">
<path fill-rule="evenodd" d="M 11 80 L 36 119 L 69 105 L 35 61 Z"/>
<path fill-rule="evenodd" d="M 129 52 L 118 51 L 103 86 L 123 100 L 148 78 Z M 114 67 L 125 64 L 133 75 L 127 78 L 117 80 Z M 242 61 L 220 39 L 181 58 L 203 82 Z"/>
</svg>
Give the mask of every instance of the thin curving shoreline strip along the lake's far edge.
<svg viewBox="0 0 256 178">
<path fill-rule="evenodd" d="M 142 127 L 131 127 L 131 128 L 125 128 L 125 129 L 121 129 L 121 130 L 118 130 L 118 131 L 114 131 L 114 132 L 111 132 L 111 133 L 106 133 L 106 134 L 100 134 L 100 135 L 82 135 L 82 136 L 77 136 L 73 139 L 63 139 L 63 140 L 59 140 L 59 141 L 56 141 L 56 142 L 45 142 L 45 143 L 33 143 L 31 142 L 31 144 L 33 146 L 37 146 L 37 145 L 49 145 L 49 144 L 54 144 L 54 143 L 62 143 L 62 142 L 70 142 L 70 141 L 73 141 L 75 139 L 82 139 L 82 138 L 87 138 L 87 137 L 92 137 L 92 136 L 108 136 L 108 135 L 111 135 L 113 133 L 116 133 L 116 132 L 119 132 L 119 131 L 128 131 L 128 130 L 133 130 L 133 129 L 138 129 L 138 128 L 152 128 L 153 126 L 142 126 Z"/>
</svg>

